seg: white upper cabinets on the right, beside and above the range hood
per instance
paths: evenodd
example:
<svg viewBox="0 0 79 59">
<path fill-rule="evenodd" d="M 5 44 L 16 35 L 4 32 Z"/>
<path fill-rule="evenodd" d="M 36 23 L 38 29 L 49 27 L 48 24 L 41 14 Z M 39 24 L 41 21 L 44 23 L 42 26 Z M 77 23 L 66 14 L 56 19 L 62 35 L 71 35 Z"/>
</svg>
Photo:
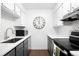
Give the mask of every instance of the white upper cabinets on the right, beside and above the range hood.
<svg viewBox="0 0 79 59">
<path fill-rule="evenodd" d="M 55 19 L 54 26 L 61 26 L 63 22 L 61 21 L 63 18 L 69 17 L 68 14 L 72 13 L 73 10 L 79 7 L 79 3 L 61 3 L 56 6 L 53 19 Z"/>
</svg>

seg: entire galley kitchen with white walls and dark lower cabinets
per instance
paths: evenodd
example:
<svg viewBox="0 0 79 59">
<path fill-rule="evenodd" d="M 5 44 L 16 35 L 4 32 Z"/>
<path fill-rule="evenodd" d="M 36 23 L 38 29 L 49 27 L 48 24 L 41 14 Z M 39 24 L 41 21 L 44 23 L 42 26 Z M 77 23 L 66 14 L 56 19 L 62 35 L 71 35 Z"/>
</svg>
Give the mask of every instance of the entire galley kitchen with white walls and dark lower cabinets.
<svg viewBox="0 0 79 59">
<path fill-rule="evenodd" d="M 0 3 L 0 56 L 79 56 L 79 3 Z"/>
</svg>

